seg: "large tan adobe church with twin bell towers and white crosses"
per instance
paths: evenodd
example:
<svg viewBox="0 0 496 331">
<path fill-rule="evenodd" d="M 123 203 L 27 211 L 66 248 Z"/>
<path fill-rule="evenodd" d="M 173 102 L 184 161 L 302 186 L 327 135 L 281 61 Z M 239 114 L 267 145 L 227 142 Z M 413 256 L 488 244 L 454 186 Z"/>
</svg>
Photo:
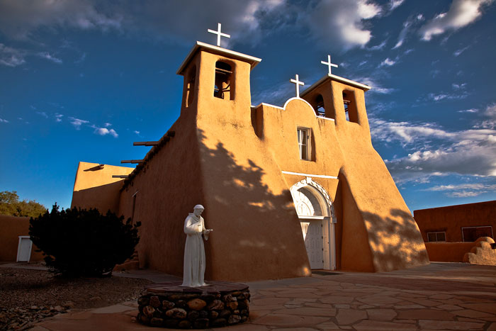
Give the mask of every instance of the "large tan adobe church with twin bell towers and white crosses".
<svg viewBox="0 0 496 331">
<path fill-rule="evenodd" d="M 220 29 L 218 30 L 220 38 Z M 201 203 L 205 280 L 390 271 L 428 264 L 422 235 L 373 149 L 364 93 L 329 74 L 283 107 L 252 106 L 261 59 L 197 42 L 179 67 L 181 115 L 135 169 L 79 162 L 72 206 L 140 221 L 140 267 L 181 276 L 184 219 Z M 335 66 L 335 65 L 334 65 Z M 290 88 L 288 83 L 288 88 Z"/>
</svg>

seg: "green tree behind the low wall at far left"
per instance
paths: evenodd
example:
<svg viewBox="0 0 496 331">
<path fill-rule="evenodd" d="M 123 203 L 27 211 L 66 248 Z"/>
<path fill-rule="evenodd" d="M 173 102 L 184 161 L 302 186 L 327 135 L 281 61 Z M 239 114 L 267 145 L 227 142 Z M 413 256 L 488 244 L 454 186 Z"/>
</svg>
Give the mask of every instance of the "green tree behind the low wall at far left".
<svg viewBox="0 0 496 331">
<path fill-rule="evenodd" d="M 19 201 L 16 191 L 0 192 L 0 215 L 37 217 L 47 208 L 34 200 Z"/>
</svg>

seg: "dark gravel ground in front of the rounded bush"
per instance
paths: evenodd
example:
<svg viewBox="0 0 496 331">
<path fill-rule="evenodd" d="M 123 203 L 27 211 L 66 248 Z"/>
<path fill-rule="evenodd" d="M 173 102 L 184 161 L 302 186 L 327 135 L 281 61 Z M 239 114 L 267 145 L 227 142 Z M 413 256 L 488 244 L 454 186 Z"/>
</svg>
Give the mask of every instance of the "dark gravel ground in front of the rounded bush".
<svg viewBox="0 0 496 331">
<path fill-rule="evenodd" d="M 0 268 L 0 330 L 26 330 L 72 308 L 98 308 L 140 296 L 146 279 L 60 279 L 48 271 Z"/>
</svg>

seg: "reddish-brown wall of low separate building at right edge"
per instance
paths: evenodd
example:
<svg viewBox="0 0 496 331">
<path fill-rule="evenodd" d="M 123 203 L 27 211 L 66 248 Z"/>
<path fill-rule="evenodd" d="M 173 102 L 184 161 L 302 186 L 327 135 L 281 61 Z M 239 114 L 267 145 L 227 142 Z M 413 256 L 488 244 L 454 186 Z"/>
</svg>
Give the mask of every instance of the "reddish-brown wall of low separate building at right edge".
<svg viewBox="0 0 496 331">
<path fill-rule="evenodd" d="M 496 201 L 419 209 L 413 215 L 425 242 L 427 232 L 446 232 L 446 242 L 462 242 L 463 227 L 491 225 L 496 231 Z"/>
</svg>

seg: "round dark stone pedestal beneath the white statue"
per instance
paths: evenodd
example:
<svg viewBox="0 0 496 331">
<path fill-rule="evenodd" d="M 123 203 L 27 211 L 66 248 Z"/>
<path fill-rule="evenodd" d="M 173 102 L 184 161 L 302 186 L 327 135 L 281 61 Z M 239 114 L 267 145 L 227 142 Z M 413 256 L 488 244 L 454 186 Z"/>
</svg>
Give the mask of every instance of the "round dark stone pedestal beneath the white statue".
<svg viewBox="0 0 496 331">
<path fill-rule="evenodd" d="M 182 287 L 180 281 L 145 286 L 137 320 L 154 327 L 206 329 L 245 322 L 249 316 L 246 284 L 212 281 Z"/>
</svg>

